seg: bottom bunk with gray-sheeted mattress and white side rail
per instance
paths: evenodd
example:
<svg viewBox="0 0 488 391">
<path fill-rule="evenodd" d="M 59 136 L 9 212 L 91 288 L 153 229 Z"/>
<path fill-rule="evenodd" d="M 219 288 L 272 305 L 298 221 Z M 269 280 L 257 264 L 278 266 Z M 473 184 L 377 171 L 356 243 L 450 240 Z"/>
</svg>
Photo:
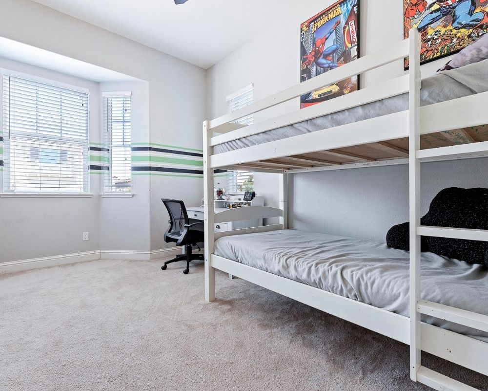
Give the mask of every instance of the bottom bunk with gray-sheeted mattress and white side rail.
<svg viewBox="0 0 488 391">
<path fill-rule="evenodd" d="M 217 239 L 212 267 L 409 344 L 408 253 L 386 244 L 295 230 Z M 422 299 L 488 314 L 488 272 L 422 255 Z M 488 334 L 423 319 L 422 349 L 488 375 Z M 474 337 L 474 338 L 472 338 Z"/>
</svg>

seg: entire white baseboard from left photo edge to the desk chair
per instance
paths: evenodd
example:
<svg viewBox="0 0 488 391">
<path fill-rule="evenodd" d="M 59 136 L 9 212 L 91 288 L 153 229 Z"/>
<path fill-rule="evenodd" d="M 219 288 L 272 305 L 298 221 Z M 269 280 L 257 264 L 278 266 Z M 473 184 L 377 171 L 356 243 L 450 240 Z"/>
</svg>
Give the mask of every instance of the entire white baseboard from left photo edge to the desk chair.
<svg viewBox="0 0 488 391">
<path fill-rule="evenodd" d="M 123 251 L 102 250 L 86 251 L 83 253 L 56 255 L 53 257 L 34 258 L 30 260 L 12 261 L 0 263 L 0 275 L 15 273 L 24 270 L 38 269 L 41 267 L 67 265 L 69 263 L 110 260 L 152 261 L 166 257 L 174 257 L 182 254 L 184 247 L 162 248 L 160 250 Z"/>
</svg>

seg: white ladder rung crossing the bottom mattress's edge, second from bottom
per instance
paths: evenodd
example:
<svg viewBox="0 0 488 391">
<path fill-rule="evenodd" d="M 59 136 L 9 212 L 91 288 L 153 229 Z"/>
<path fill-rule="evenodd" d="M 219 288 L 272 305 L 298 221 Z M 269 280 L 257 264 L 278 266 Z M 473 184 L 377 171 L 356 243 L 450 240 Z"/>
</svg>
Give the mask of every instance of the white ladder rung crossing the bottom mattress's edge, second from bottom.
<svg viewBox="0 0 488 391">
<path fill-rule="evenodd" d="M 458 325 L 468 326 L 476 330 L 488 332 L 488 316 L 448 305 L 419 300 L 417 311 L 421 314 L 444 319 Z"/>
</svg>

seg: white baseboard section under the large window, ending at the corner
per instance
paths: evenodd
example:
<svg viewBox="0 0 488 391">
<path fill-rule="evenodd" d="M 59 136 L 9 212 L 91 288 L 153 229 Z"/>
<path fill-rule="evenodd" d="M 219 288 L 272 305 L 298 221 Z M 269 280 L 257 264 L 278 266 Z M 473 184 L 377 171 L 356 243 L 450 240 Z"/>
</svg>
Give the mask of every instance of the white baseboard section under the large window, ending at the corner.
<svg viewBox="0 0 488 391">
<path fill-rule="evenodd" d="M 69 263 L 98 261 L 100 251 L 85 251 L 83 253 L 56 255 L 54 257 L 33 258 L 30 260 L 0 263 L 0 274 L 15 273 L 24 270 L 38 269 L 48 266 L 66 265 Z"/>
</svg>

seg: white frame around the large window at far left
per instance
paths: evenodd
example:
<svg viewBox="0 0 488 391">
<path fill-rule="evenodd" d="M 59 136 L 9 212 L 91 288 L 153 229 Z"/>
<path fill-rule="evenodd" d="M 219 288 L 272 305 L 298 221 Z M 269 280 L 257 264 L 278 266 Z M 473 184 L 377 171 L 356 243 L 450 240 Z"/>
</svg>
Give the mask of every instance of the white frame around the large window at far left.
<svg viewBox="0 0 488 391">
<path fill-rule="evenodd" d="M 78 92 L 81 94 L 86 94 L 86 115 L 87 115 L 87 121 L 86 121 L 86 156 L 87 156 L 87 164 L 84 165 L 83 167 L 83 181 L 86 183 L 86 187 L 84 191 L 82 192 L 69 192 L 69 191 L 60 191 L 60 192 L 49 192 L 49 191 L 10 191 L 10 189 L 5 189 L 4 185 L 4 177 L 5 177 L 5 148 L 4 148 L 4 142 L 6 136 L 3 134 L 4 130 L 4 108 L 3 108 L 3 100 L 4 100 L 4 90 L 3 90 L 3 81 L 5 77 L 14 77 L 14 78 L 20 78 L 28 81 L 32 81 L 34 83 L 41 83 L 45 84 L 48 86 L 52 87 L 59 87 L 63 89 L 68 89 L 74 92 Z M 0 84 L 2 86 L 1 92 L 0 92 L 0 97 L 1 97 L 1 102 L 0 102 L 0 130 L 1 130 L 1 136 L 2 140 L 0 141 L 0 145 L 2 147 L 3 153 L 0 155 L 1 160 L 3 161 L 3 166 L 2 170 L 0 170 L 0 197 L 1 198 L 85 198 L 85 197 L 92 197 L 93 194 L 90 192 L 91 190 L 91 183 L 90 183 L 90 171 L 89 171 L 89 145 L 90 145 L 90 90 L 85 87 L 80 87 L 64 82 L 60 82 L 59 80 L 53 80 L 53 79 L 48 79 L 44 77 L 40 77 L 37 75 L 33 75 L 30 73 L 25 73 L 25 72 L 19 72 L 15 71 L 12 69 L 8 68 L 3 68 L 0 67 Z M 9 139 L 10 141 L 10 139 Z M 10 158 L 8 159 L 10 163 Z M 10 175 L 10 173 L 8 174 Z"/>
</svg>

